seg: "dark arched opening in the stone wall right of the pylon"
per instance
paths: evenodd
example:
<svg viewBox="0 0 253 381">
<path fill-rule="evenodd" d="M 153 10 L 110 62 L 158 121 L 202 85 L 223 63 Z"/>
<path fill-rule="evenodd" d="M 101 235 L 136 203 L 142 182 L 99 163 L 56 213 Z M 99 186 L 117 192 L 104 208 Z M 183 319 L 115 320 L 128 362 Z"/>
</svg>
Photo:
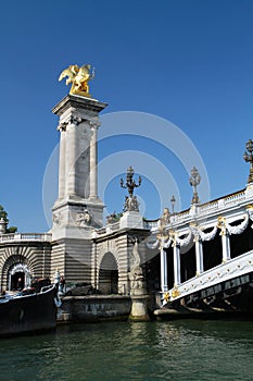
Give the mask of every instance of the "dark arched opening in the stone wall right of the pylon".
<svg viewBox="0 0 253 381">
<path fill-rule="evenodd" d="M 99 291 L 102 294 L 118 293 L 118 269 L 112 253 L 106 253 L 100 263 Z"/>
</svg>

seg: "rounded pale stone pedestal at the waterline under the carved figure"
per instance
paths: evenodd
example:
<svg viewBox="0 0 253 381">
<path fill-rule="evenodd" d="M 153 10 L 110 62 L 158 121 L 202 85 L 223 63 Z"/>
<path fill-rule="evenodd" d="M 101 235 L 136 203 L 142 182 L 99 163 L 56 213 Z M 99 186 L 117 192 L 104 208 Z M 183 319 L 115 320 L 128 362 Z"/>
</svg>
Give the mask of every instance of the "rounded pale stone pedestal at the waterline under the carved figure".
<svg viewBox="0 0 253 381">
<path fill-rule="evenodd" d="M 150 316 L 148 311 L 148 305 L 150 296 L 147 294 L 146 288 L 131 290 L 131 311 L 129 319 L 134 321 L 149 321 Z"/>
</svg>

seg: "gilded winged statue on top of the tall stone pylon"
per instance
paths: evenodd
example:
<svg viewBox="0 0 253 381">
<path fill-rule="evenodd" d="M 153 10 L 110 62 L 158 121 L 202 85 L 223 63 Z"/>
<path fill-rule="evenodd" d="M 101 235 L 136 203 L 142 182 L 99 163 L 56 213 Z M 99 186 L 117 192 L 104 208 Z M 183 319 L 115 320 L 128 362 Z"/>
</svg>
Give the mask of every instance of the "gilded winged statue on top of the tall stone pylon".
<svg viewBox="0 0 253 381">
<path fill-rule="evenodd" d="M 90 97 L 88 82 L 94 77 L 94 69 L 91 71 L 90 64 L 80 67 L 78 65 L 69 65 L 61 73 L 59 81 L 66 76 L 68 77 L 66 85 L 72 83 L 69 94 Z"/>
</svg>

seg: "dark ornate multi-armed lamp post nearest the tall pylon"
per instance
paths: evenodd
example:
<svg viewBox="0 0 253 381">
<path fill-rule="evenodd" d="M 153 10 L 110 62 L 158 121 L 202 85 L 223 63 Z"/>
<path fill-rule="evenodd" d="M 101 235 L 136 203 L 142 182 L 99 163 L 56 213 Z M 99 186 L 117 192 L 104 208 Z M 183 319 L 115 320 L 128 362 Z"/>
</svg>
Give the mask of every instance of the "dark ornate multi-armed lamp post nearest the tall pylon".
<svg viewBox="0 0 253 381">
<path fill-rule="evenodd" d="M 137 201 L 137 197 L 132 196 L 135 188 L 141 185 L 141 176 L 138 179 L 138 184 L 132 179 L 135 171 L 131 167 L 127 169 L 126 182 L 124 184 L 124 180 L 121 179 L 121 187 L 127 188 L 129 196 L 126 196 L 124 211 L 139 211 L 139 202 Z"/>
</svg>

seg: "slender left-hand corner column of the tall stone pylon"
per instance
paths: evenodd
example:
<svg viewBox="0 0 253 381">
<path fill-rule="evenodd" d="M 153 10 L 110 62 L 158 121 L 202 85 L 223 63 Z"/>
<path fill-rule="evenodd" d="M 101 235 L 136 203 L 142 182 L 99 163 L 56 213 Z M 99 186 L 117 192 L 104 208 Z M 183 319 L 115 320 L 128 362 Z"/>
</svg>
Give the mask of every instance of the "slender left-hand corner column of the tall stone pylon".
<svg viewBox="0 0 253 381">
<path fill-rule="evenodd" d="M 65 196 L 65 172 L 66 172 L 66 124 L 60 124 L 60 156 L 59 156 L 59 199 Z"/>
</svg>

